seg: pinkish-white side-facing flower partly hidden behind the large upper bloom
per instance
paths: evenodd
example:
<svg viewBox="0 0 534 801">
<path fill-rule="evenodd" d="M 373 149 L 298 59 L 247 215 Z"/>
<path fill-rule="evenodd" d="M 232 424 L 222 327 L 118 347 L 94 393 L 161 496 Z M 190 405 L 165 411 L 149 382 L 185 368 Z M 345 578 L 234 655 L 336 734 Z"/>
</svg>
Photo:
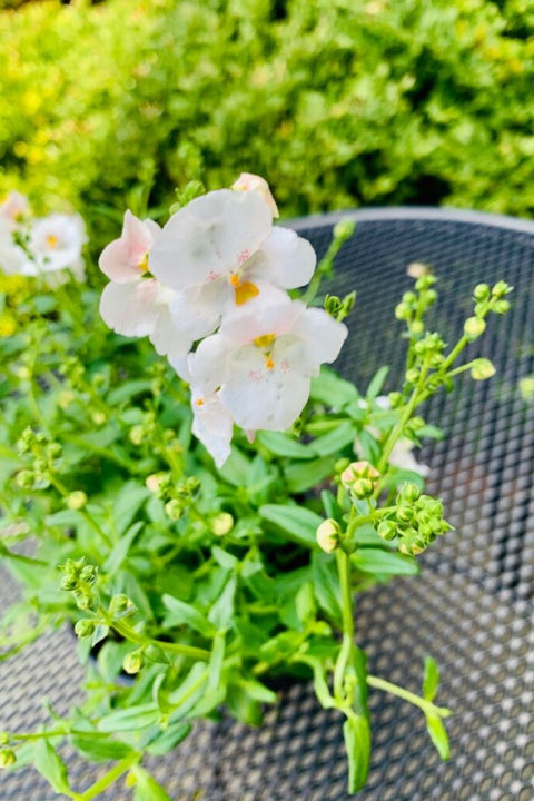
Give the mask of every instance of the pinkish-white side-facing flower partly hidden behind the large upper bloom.
<svg viewBox="0 0 534 801">
<path fill-rule="evenodd" d="M 161 356 L 168 356 L 181 375 L 192 339 L 178 334 L 169 304 L 176 293 L 149 274 L 150 251 L 161 229 L 152 220 L 140 220 L 127 211 L 122 233 L 101 253 L 100 269 L 110 278 L 100 298 L 100 315 L 123 336 L 148 336 Z"/>
</svg>

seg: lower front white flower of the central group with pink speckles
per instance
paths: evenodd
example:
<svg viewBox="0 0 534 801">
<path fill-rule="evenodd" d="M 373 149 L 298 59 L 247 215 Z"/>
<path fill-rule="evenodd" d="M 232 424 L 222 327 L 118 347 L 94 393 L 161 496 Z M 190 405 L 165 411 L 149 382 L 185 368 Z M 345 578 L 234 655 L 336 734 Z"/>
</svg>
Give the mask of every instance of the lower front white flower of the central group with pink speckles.
<svg viewBox="0 0 534 801">
<path fill-rule="evenodd" d="M 215 393 L 217 403 L 249 434 L 258 428 L 285 431 L 308 399 L 312 376 L 337 358 L 346 336 L 346 326 L 323 309 L 266 289 L 225 317 L 219 333 L 190 356 L 194 411 L 201 415 Z"/>
</svg>

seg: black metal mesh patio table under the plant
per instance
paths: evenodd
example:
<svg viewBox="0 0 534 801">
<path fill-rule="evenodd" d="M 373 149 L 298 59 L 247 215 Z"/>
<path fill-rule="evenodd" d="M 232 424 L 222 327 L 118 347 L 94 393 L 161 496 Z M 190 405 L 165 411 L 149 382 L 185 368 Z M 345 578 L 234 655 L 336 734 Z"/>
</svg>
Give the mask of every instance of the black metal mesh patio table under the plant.
<svg viewBox="0 0 534 801">
<path fill-rule="evenodd" d="M 473 352 L 490 357 L 490 382 L 458 378 L 425 416 L 445 438 L 425 446 L 428 492 L 443 498 L 455 526 L 423 556 L 422 575 L 377 586 L 357 602 L 357 640 L 378 674 L 418 691 L 425 654 L 442 672 L 437 702 L 451 706 L 452 756 L 442 763 L 421 712 L 370 693 L 374 751 L 360 801 L 532 801 L 534 798 L 534 398 L 521 379 L 534 374 L 534 222 L 426 208 L 373 209 L 308 217 L 293 227 L 322 255 L 340 218 L 357 222 L 337 258 L 336 294 L 358 299 L 343 374 L 366 383 L 377 366 L 395 386 L 404 364 L 394 307 L 421 261 L 438 276 L 435 328 L 454 342 L 484 280 L 514 286 L 512 312 L 488 322 Z M 482 342 L 482 344 L 481 344 Z M 0 584 L 2 607 L 17 594 Z M 82 671 L 68 630 L 42 637 L 0 663 L 0 729 L 38 725 L 41 699 L 58 712 L 80 698 Z M 100 770 L 67 752 L 75 787 Z M 156 777 L 177 801 L 325 801 L 348 799 L 340 720 L 322 710 L 310 685 L 294 685 L 267 711 L 261 729 L 229 719 L 202 722 Z M 91 772 L 92 771 L 92 772 Z M 0 777 L 2 801 L 58 798 L 32 769 Z M 131 790 L 103 792 L 127 801 Z"/>
</svg>

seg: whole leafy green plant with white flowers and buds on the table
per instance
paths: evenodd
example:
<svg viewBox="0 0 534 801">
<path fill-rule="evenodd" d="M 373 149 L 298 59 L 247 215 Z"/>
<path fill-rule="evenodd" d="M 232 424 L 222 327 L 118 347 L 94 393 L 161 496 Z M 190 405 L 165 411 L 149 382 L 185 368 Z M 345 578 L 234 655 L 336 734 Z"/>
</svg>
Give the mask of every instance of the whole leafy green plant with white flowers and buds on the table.
<svg viewBox="0 0 534 801">
<path fill-rule="evenodd" d="M 1 733 L 0 762 L 33 763 L 67 798 L 122 777 L 138 801 L 170 798 L 145 755 L 222 708 L 259 724 L 287 681 L 312 680 L 338 712 L 350 793 L 368 771 L 369 689 L 418 706 L 448 756 L 436 663 L 421 695 L 369 674 L 353 604 L 415 576 L 451 527 L 412 453 L 439 435 L 419 407 L 459 373 L 493 375 L 465 349 L 511 289 L 477 285 L 451 345 L 428 320 L 436 277 L 413 266 L 396 308 L 404 380 L 382 395 L 380 366 L 360 393 L 328 366 L 356 293 L 322 295 L 354 226 L 335 227 L 316 265 L 277 214 L 249 174 L 231 189 L 189 185 L 162 228 L 127 211 L 100 294 L 82 280 L 79 218 L 49 230 L 20 196 L 1 207 L 1 555 L 23 597 L 0 642 L 9 656 L 70 622 L 90 691 L 68 715 L 50 710 L 49 726 Z M 73 789 L 66 742 L 111 767 Z"/>
</svg>

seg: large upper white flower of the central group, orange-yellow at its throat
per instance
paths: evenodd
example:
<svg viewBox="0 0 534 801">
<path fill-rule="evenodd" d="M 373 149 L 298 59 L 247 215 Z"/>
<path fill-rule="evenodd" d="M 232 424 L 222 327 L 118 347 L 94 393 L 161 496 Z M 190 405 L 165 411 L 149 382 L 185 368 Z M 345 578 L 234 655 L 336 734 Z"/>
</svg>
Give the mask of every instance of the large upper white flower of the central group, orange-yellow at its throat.
<svg viewBox="0 0 534 801">
<path fill-rule="evenodd" d="M 266 284 L 293 289 L 314 274 L 312 245 L 273 228 L 259 191 L 219 189 L 191 200 L 164 227 L 150 270 L 177 295 L 172 323 L 192 340 L 212 334 L 227 314 L 261 295 Z"/>
</svg>

